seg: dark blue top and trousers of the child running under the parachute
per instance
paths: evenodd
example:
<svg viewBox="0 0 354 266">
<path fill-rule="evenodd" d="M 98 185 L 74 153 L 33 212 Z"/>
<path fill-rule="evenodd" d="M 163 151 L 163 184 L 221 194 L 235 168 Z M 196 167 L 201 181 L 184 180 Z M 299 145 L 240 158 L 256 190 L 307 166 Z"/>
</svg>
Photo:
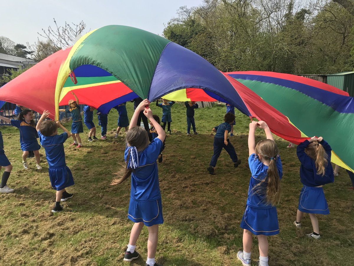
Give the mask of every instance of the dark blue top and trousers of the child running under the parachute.
<svg viewBox="0 0 354 266">
<path fill-rule="evenodd" d="M 230 140 L 227 139 L 228 144 L 225 145 L 224 143 L 224 133 L 227 130 L 228 132 L 231 131 L 231 125 L 229 123 L 222 123 L 219 126 L 214 127 L 216 129 L 216 134 L 214 137 L 214 154 L 211 157 L 210 164 L 212 167 L 216 166 L 216 162 L 220 156 L 222 149 L 224 148 L 225 151 L 230 155 L 231 160 L 235 163 L 238 160 L 236 151 L 234 146 L 230 143 Z"/>
</svg>

